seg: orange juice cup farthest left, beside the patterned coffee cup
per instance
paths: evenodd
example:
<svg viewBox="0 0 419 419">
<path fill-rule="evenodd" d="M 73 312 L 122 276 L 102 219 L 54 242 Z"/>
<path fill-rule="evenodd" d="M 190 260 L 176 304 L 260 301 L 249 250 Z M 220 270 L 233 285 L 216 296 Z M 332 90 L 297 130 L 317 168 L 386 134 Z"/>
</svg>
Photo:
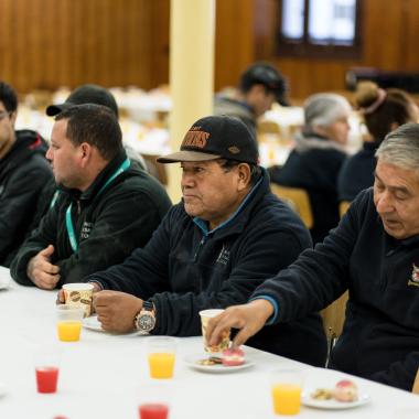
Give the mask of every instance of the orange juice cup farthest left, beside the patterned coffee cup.
<svg viewBox="0 0 419 419">
<path fill-rule="evenodd" d="M 62 342 L 77 342 L 80 339 L 84 309 L 60 304 L 56 307 L 56 327 Z"/>
</svg>

